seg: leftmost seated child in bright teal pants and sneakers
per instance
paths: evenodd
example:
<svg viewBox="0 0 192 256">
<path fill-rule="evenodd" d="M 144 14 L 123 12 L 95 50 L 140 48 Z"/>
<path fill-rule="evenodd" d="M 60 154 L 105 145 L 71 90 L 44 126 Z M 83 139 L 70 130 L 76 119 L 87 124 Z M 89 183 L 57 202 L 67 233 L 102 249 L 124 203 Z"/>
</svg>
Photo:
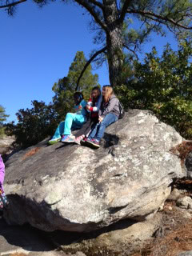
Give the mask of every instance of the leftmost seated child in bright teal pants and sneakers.
<svg viewBox="0 0 192 256">
<path fill-rule="evenodd" d="M 74 110 L 75 113 L 67 113 L 66 120 L 60 122 L 58 128 L 55 130 L 53 138 L 48 142 L 50 145 L 60 141 L 74 142 L 74 136 L 71 135 L 71 129 L 80 129 L 87 121 L 86 118 L 86 101 L 80 92 L 74 93 Z"/>
</svg>

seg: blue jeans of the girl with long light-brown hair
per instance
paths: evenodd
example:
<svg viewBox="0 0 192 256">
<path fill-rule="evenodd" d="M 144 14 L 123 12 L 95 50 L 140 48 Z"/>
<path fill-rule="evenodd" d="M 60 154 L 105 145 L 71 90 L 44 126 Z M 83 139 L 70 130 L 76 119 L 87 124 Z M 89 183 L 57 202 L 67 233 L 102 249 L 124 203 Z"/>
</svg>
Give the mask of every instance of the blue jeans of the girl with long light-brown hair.
<svg viewBox="0 0 192 256">
<path fill-rule="evenodd" d="M 118 121 L 118 117 L 113 114 L 113 113 L 109 113 L 106 114 L 105 118 L 103 118 L 102 122 L 98 122 L 93 130 L 91 130 L 90 135 L 88 138 L 95 138 L 97 139 L 99 142 L 106 130 L 107 126 L 110 126 L 111 123 Z"/>
</svg>

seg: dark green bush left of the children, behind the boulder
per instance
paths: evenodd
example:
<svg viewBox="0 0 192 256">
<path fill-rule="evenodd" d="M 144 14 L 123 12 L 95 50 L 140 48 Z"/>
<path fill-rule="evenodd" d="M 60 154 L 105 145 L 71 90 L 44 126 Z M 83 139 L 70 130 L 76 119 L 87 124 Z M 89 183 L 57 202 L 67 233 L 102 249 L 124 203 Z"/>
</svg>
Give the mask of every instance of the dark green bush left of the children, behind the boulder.
<svg viewBox="0 0 192 256">
<path fill-rule="evenodd" d="M 53 104 L 32 101 L 33 108 L 21 109 L 16 113 L 18 124 L 14 122 L 6 125 L 7 133 L 15 136 L 15 145 L 27 147 L 35 145 L 42 139 L 53 134 L 58 125 L 57 114 Z"/>
</svg>

